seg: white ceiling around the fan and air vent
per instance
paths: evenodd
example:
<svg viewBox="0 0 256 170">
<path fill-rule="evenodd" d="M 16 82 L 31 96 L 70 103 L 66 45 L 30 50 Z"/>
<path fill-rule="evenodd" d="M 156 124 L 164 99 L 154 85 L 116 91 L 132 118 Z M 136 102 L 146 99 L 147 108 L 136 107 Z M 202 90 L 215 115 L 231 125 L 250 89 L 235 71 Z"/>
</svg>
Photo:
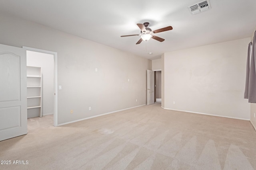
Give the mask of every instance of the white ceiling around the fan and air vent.
<svg viewBox="0 0 256 170">
<path fill-rule="evenodd" d="M 78 37 L 148 58 L 164 52 L 251 37 L 256 0 L 210 0 L 211 9 L 191 15 L 201 0 L 0 0 L 0 13 L 34 21 Z M 136 42 L 136 23 L 148 21 L 165 41 Z M 148 54 L 152 52 L 153 54 Z"/>
</svg>

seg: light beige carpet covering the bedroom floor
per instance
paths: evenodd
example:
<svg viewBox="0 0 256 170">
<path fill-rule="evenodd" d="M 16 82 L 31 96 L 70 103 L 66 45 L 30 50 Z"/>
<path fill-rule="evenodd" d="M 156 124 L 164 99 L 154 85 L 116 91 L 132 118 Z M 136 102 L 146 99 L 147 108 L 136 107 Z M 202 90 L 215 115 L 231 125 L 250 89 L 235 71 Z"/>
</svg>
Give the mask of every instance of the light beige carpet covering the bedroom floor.
<svg viewBox="0 0 256 170">
<path fill-rule="evenodd" d="M 28 134 L 0 142 L 0 169 L 253 170 L 249 121 L 165 110 L 159 103 L 61 127 L 28 119 Z"/>
</svg>

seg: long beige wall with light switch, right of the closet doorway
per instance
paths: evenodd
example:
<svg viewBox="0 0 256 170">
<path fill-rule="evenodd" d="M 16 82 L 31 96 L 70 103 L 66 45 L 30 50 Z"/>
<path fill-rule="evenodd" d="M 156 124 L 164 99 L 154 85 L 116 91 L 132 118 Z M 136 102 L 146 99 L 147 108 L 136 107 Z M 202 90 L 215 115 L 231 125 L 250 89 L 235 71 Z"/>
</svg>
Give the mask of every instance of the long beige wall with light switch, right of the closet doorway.
<svg viewBox="0 0 256 170">
<path fill-rule="evenodd" d="M 58 124 L 146 104 L 150 60 L 10 16 L 0 23 L 1 44 L 58 53 Z"/>
</svg>

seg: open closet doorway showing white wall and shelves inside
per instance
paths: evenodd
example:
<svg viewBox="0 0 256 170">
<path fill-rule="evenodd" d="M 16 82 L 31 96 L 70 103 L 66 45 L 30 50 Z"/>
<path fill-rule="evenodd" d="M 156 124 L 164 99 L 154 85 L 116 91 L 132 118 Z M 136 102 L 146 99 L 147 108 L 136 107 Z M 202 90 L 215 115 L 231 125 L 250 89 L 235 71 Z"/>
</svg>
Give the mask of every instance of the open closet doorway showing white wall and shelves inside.
<svg viewBox="0 0 256 170">
<path fill-rule="evenodd" d="M 53 115 L 54 113 L 54 56 L 52 54 L 40 53 L 35 51 L 27 51 L 27 72 L 30 71 L 30 75 L 33 73 L 38 75 L 37 81 L 40 81 L 40 86 L 32 86 L 28 88 L 28 94 L 32 90 L 40 91 L 38 94 L 31 94 L 30 96 L 38 96 L 38 98 L 28 98 L 29 104 L 37 102 L 36 104 L 41 107 L 28 109 L 28 119 L 34 117 L 42 117 L 46 115 Z M 34 71 L 34 72 L 33 72 Z M 34 77 L 27 77 L 27 82 L 32 83 L 30 79 Z M 38 88 L 38 89 L 36 89 Z M 38 100 L 38 101 L 36 101 Z M 40 101 L 40 104 L 38 102 Z M 33 105 L 32 105 L 33 106 Z M 40 111 L 39 111 L 40 110 Z M 39 114 L 40 112 L 40 114 Z"/>
</svg>

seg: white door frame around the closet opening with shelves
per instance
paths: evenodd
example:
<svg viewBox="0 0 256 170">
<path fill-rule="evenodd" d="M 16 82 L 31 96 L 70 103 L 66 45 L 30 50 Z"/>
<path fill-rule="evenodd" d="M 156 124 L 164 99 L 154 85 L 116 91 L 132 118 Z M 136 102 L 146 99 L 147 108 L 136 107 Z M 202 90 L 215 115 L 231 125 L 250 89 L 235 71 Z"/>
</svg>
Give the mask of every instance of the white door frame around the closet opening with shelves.
<svg viewBox="0 0 256 170">
<path fill-rule="evenodd" d="M 27 51 L 35 51 L 39 53 L 46 53 L 52 54 L 54 59 L 54 110 L 53 110 L 53 125 L 58 126 L 58 55 L 57 52 L 54 51 L 47 51 L 42 49 L 36 49 L 31 47 L 22 46 L 22 48 L 26 49 Z"/>
</svg>

